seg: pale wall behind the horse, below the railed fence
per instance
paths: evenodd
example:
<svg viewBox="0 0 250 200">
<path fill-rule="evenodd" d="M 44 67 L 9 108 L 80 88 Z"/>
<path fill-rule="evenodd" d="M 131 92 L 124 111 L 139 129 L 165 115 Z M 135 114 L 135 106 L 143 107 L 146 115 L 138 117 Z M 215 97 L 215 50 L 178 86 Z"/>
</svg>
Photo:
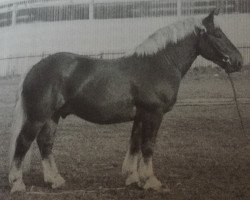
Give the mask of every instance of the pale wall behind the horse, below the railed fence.
<svg viewBox="0 0 250 200">
<path fill-rule="evenodd" d="M 58 51 L 81 54 L 126 51 L 140 44 L 158 28 L 176 20 L 176 17 L 81 20 L 19 24 L 0 28 L 0 59 Z M 250 14 L 221 15 L 217 20 L 236 46 L 250 46 Z M 246 62 L 250 62 L 249 53 L 249 50 L 244 53 Z M 6 62 L 8 63 L 5 61 L 3 64 L 0 60 L 0 75 Z M 26 65 L 34 64 L 33 62 L 37 62 L 36 59 Z M 7 67 L 17 67 L 11 65 L 8 64 Z"/>
</svg>

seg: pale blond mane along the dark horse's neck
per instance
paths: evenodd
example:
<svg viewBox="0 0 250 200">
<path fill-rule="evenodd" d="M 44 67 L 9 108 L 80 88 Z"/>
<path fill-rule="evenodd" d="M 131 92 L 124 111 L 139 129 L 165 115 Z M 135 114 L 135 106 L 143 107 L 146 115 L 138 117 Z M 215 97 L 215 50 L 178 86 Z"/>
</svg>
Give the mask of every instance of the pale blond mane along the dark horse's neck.
<svg viewBox="0 0 250 200">
<path fill-rule="evenodd" d="M 177 43 L 195 31 L 195 27 L 204 27 L 201 18 L 187 18 L 158 29 L 150 35 L 132 53 L 152 55 L 165 48 L 169 43 Z"/>
</svg>

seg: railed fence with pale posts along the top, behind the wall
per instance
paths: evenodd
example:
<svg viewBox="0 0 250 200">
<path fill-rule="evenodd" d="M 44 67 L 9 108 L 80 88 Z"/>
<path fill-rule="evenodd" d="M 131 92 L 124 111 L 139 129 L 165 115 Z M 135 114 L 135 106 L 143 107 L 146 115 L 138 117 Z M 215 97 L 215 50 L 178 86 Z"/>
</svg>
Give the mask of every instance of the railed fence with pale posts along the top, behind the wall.
<svg viewBox="0 0 250 200">
<path fill-rule="evenodd" d="M 0 27 L 20 23 L 250 13 L 249 0 L 23 0 L 0 4 Z"/>
</svg>

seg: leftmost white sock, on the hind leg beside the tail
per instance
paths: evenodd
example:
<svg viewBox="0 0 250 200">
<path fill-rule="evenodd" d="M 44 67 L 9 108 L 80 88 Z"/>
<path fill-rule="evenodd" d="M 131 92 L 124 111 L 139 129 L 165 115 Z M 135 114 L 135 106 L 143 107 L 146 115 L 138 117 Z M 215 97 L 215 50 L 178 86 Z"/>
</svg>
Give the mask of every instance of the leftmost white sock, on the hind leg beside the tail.
<svg viewBox="0 0 250 200">
<path fill-rule="evenodd" d="M 15 163 L 13 162 L 10 173 L 9 182 L 11 184 L 11 193 L 25 191 L 25 184 L 23 183 L 23 173 L 22 168 L 17 169 Z"/>
</svg>

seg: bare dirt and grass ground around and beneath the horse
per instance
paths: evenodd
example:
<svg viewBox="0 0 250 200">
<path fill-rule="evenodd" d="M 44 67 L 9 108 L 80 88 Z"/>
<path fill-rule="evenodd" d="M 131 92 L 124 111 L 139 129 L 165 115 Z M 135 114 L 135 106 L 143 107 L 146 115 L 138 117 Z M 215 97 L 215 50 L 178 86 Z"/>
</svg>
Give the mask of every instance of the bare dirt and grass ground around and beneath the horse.
<svg viewBox="0 0 250 200">
<path fill-rule="evenodd" d="M 233 74 L 233 79 L 250 137 L 249 68 Z M 249 140 L 241 131 L 233 101 L 230 103 L 233 96 L 226 75 L 210 68 L 187 74 L 180 88 L 179 103 L 165 115 L 159 131 L 154 169 L 169 186 L 170 193 L 125 187 L 121 165 L 132 123 L 103 126 L 70 116 L 60 121 L 54 146 L 65 187 L 54 191 L 43 183 L 35 145 L 31 172 L 24 174 L 27 192 L 10 196 L 8 145 L 18 82 L 18 77 L 0 79 L 1 200 L 250 199 Z"/>
</svg>

